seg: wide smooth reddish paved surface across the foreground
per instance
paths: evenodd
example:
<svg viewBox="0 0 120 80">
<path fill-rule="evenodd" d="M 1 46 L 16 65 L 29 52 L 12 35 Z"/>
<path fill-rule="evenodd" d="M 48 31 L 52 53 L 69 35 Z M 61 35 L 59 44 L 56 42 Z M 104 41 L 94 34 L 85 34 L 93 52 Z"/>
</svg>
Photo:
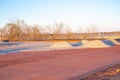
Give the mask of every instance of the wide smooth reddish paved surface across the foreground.
<svg viewBox="0 0 120 80">
<path fill-rule="evenodd" d="M 116 61 L 120 46 L 0 55 L 0 80 L 71 80 Z"/>
</svg>

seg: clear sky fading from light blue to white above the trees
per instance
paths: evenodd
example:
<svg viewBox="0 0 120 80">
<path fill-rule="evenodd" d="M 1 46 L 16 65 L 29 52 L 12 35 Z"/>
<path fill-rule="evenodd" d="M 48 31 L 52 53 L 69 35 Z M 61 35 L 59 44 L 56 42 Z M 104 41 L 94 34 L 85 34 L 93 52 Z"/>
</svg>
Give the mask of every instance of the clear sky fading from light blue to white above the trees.
<svg viewBox="0 0 120 80">
<path fill-rule="evenodd" d="M 120 31 L 120 0 L 0 0 L 0 27 L 13 20 L 47 25 L 63 22 L 74 31 L 96 25 Z"/>
</svg>

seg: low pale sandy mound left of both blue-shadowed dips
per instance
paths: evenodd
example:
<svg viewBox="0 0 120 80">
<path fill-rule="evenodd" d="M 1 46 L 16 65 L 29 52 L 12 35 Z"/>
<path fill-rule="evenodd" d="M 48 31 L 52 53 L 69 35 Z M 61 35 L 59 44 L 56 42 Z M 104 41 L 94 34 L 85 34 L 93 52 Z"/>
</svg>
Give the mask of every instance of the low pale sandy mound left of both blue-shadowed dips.
<svg viewBox="0 0 120 80">
<path fill-rule="evenodd" d="M 72 47 L 72 45 L 70 45 L 68 42 L 66 41 L 62 41 L 62 42 L 55 42 L 53 43 L 50 48 L 70 48 Z"/>
</svg>

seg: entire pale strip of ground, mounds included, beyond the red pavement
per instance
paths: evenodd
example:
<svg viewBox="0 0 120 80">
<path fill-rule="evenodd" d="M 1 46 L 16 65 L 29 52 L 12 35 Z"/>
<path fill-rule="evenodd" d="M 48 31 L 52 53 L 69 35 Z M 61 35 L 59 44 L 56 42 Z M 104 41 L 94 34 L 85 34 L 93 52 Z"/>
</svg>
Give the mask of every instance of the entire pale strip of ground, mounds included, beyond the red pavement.
<svg viewBox="0 0 120 80">
<path fill-rule="evenodd" d="M 80 42 L 0 42 L 0 54 L 61 49 L 107 48 L 120 45 L 116 40 L 82 40 Z"/>
</svg>

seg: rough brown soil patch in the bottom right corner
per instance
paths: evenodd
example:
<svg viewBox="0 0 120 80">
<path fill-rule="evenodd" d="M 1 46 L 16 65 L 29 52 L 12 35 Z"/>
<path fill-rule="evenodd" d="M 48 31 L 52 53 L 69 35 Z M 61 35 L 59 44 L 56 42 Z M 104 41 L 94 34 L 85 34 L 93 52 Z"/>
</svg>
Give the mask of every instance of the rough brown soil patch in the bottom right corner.
<svg viewBox="0 0 120 80">
<path fill-rule="evenodd" d="M 81 78 L 80 80 L 120 80 L 120 64 Z"/>
</svg>

